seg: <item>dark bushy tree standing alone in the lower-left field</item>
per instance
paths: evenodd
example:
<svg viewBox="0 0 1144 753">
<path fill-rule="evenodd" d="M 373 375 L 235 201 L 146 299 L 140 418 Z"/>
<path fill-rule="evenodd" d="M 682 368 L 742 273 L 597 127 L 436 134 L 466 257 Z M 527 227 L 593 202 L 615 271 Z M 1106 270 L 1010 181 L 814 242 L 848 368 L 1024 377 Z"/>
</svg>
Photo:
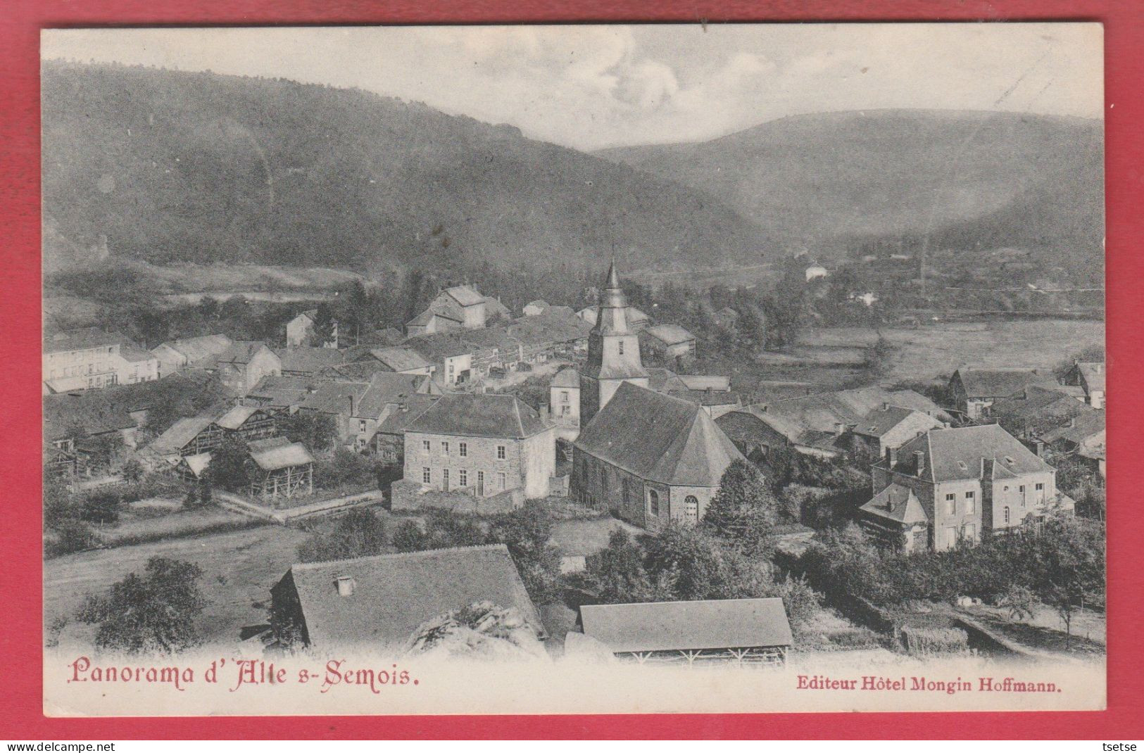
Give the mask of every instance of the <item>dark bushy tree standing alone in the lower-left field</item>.
<svg viewBox="0 0 1144 753">
<path fill-rule="evenodd" d="M 181 651 L 199 642 L 196 619 L 206 607 L 198 565 L 151 557 L 145 574 L 129 573 L 105 595 L 90 596 L 78 618 L 98 625 L 95 644 L 129 653 Z"/>
</svg>

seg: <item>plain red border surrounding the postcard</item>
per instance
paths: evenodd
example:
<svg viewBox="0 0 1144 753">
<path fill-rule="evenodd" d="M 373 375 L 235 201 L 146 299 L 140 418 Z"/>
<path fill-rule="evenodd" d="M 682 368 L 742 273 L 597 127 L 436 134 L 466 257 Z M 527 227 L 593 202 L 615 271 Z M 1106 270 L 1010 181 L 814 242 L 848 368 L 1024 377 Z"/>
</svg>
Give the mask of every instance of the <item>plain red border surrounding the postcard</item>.
<svg viewBox="0 0 1144 753">
<path fill-rule="evenodd" d="M 85 25 L 508 22 L 1098 21 L 1105 25 L 1109 708 L 1073 713 L 48 719 L 41 700 L 39 30 Z M 0 6 L 0 738 L 1090 738 L 1144 737 L 1144 3 L 1123 0 L 8 0 Z"/>
</svg>

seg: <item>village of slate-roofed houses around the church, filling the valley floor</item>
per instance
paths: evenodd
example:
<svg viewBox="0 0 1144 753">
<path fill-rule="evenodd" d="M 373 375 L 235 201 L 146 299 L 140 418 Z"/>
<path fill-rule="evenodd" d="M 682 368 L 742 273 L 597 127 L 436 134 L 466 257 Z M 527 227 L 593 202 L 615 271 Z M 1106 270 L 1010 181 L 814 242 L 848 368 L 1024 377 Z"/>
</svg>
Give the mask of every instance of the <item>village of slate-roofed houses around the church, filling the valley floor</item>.
<svg viewBox="0 0 1144 753">
<path fill-rule="evenodd" d="M 140 645 L 93 599 L 186 550 L 227 594 L 202 637 L 267 651 L 1103 655 L 1103 356 L 939 389 L 761 358 L 779 378 L 747 391 L 598 275 L 580 310 L 458 284 L 365 336 L 324 307 L 268 341 L 46 334 L 49 642 Z"/>
</svg>

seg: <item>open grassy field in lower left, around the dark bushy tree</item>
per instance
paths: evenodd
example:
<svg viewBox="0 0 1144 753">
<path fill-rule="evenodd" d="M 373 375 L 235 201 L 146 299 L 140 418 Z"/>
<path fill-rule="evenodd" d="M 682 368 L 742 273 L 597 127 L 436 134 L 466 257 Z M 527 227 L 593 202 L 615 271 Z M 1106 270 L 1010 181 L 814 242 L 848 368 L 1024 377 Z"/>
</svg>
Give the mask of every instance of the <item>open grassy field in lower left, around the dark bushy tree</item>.
<svg viewBox="0 0 1144 753">
<path fill-rule="evenodd" d="M 267 621 L 270 587 L 294 563 L 304 531 L 262 525 L 241 531 L 170 539 L 154 544 L 84 552 L 43 563 L 45 637 L 50 641 L 89 594 L 103 593 L 129 572 L 142 572 L 148 558 L 174 557 L 202 569 L 199 581 L 209 601 L 199 618 L 207 641 L 233 643 L 244 625 Z M 94 627 L 70 623 L 62 642 L 88 643 Z"/>
</svg>

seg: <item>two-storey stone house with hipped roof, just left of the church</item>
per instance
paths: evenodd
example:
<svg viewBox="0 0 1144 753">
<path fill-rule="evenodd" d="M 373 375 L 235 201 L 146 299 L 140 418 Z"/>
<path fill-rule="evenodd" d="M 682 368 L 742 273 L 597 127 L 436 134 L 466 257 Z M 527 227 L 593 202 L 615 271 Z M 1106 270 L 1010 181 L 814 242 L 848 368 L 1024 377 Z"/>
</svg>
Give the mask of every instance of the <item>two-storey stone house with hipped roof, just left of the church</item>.
<svg viewBox="0 0 1144 753">
<path fill-rule="evenodd" d="M 513 395 L 443 395 L 405 429 L 405 479 L 491 497 L 547 497 L 555 431 Z"/>
</svg>

